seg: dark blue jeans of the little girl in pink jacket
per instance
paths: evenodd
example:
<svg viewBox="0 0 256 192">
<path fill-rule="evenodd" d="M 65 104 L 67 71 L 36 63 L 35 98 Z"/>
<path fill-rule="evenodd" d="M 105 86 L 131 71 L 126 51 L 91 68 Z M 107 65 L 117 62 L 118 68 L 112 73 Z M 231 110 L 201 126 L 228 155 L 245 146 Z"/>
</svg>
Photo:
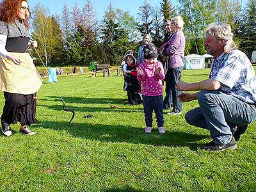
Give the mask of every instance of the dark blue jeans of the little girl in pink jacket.
<svg viewBox="0 0 256 192">
<path fill-rule="evenodd" d="M 159 95 L 159 96 L 145 96 L 145 95 L 143 95 L 143 107 L 144 107 L 146 127 L 152 127 L 153 109 L 156 113 L 157 127 L 163 127 L 164 126 L 163 95 Z"/>
</svg>

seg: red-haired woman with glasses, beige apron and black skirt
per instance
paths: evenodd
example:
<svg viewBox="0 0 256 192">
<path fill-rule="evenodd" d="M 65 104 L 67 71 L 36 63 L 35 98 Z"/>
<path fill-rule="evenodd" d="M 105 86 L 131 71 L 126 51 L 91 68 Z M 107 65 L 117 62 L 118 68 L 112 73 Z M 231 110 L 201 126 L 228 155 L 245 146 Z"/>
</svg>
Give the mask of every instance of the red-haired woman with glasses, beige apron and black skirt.
<svg viewBox="0 0 256 192">
<path fill-rule="evenodd" d="M 28 125 L 35 123 L 36 92 L 42 85 L 29 56 L 29 8 L 26 0 L 3 0 L 0 4 L 0 90 L 4 93 L 1 130 L 13 134 L 10 124 L 20 122 L 22 134 L 33 135 Z"/>
</svg>

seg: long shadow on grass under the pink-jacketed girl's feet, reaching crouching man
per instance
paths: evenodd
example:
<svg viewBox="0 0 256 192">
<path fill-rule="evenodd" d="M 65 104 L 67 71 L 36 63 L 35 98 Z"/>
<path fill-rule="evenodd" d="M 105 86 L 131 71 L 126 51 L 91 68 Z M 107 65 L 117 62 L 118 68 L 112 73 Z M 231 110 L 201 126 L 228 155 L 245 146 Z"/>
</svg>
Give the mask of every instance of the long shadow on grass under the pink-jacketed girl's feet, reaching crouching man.
<svg viewBox="0 0 256 192">
<path fill-rule="evenodd" d="M 166 131 L 164 135 L 158 133 L 157 129 L 152 130 L 152 134 L 145 134 L 142 128 L 123 125 L 103 125 L 103 124 L 76 124 L 77 127 L 69 127 L 68 123 L 56 123 L 42 121 L 34 124 L 34 127 L 54 129 L 56 131 L 65 130 L 74 137 L 88 140 L 97 140 L 116 143 L 134 143 L 154 146 L 189 147 L 196 150 L 200 144 L 196 141 L 208 138 L 207 135 L 191 134 L 182 131 Z"/>
</svg>

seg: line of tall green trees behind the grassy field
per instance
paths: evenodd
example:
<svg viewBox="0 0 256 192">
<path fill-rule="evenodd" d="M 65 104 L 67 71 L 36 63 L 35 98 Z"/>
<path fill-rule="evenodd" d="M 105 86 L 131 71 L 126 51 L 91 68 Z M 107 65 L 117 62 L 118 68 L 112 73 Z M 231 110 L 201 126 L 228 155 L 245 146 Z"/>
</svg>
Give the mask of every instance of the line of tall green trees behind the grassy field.
<svg viewBox="0 0 256 192">
<path fill-rule="evenodd" d="M 230 24 L 237 47 L 249 58 L 256 51 L 256 0 L 248 0 L 243 7 L 240 0 L 179 0 L 179 6 L 163 0 L 157 7 L 144 0 L 136 17 L 109 4 L 101 20 L 90 0 L 83 7 L 64 4 L 56 15 L 49 15 L 48 8 L 37 4 L 31 26 L 37 51 L 47 66 L 88 66 L 90 61 L 120 65 L 128 49 L 136 54 L 145 33 L 150 33 L 159 47 L 165 33 L 164 19 L 176 15 L 185 22 L 185 54 L 205 53 L 204 31 L 212 22 Z M 41 65 L 36 52 L 32 54 L 35 64 Z"/>
</svg>

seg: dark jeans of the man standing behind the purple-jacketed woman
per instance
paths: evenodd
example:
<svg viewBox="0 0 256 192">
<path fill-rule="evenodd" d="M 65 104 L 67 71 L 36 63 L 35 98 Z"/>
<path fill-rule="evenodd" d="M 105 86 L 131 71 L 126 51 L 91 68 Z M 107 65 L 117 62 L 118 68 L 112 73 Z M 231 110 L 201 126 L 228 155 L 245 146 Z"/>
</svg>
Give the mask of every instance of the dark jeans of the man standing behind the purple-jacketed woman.
<svg viewBox="0 0 256 192">
<path fill-rule="evenodd" d="M 171 93 L 171 88 L 172 88 L 172 81 L 171 81 L 171 72 L 173 70 L 168 69 L 166 72 L 166 75 L 164 77 L 165 79 L 165 97 L 163 101 L 163 109 L 170 110 L 171 105 L 172 105 L 172 93 Z"/>
</svg>

